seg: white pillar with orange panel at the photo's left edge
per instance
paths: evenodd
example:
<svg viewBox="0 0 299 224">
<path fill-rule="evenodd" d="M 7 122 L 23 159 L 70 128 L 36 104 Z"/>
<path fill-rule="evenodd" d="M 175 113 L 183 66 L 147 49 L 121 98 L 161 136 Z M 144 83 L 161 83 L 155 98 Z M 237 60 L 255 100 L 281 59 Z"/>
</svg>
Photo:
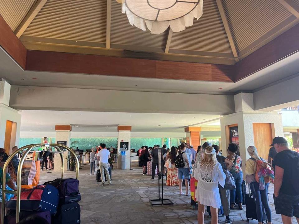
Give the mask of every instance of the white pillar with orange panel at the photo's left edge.
<svg viewBox="0 0 299 224">
<path fill-rule="evenodd" d="M 19 146 L 21 114 L 9 107 L 11 86 L 0 81 L 0 147 L 11 154 L 13 146 Z"/>
</svg>

